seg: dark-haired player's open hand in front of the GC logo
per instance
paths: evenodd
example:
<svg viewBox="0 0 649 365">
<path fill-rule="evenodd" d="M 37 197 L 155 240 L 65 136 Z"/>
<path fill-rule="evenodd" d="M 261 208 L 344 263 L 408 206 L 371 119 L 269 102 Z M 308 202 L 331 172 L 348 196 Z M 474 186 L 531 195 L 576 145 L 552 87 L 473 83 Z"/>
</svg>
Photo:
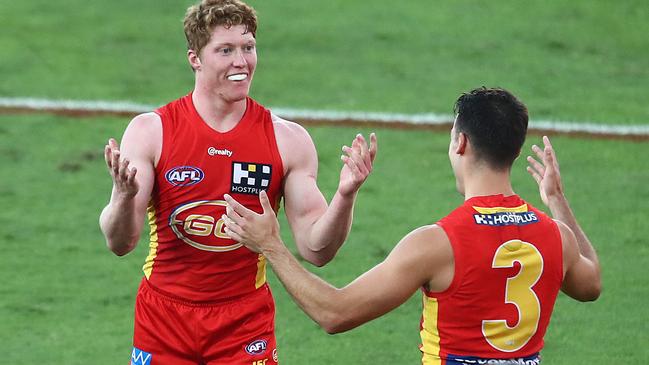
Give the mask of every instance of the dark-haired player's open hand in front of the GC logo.
<svg viewBox="0 0 649 365">
<path fill-rule="evenodd" d="M 279 222 L 265 191 L 259 193 L 259 202 L 264 209 L 262 214 L 244 207 L 228 194 L 224 197 L 228 205 L 221 218 L 228 236 L 254 252 L 264 253 L 272 250 L 273 245 L 282 244 Z"/>
</svg>

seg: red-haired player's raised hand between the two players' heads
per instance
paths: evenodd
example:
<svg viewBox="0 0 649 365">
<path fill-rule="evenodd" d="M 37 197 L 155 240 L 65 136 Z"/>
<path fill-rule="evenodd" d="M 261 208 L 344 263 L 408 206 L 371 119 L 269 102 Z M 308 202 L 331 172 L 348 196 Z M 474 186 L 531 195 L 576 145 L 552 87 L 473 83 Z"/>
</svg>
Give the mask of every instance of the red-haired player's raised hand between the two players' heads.
<svg viewBox="0 0 649 365">
<path fill-rule="evenodd" d="M 357 134 L 352 141 L 352 146 L 343 146 L 343 155 L 340 159 L 344 165 L 340 171 L 338 191 L 342 195 L 354 194 L 372 172 L 374 158 L 378 144 L 376 134 L 370 134 L 370 143 L 367 144 L 362 134 Z"/>
</svg>

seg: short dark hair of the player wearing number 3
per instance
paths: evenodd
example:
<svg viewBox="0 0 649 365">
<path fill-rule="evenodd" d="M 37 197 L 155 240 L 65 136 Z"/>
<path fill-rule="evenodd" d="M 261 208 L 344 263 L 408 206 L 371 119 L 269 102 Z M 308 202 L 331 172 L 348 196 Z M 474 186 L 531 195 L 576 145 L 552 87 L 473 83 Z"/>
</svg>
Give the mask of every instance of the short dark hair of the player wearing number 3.
<svg viewBox="0 0 649 365">
<path fill-rule="evenodd" d="M 456 133 L 464 133 L 478 158 L 503 170 L 512 164 L 525 143 L 527 107 L 502 88 L 480 87 L 460 95 L 453 108 Z"/>
</svg>

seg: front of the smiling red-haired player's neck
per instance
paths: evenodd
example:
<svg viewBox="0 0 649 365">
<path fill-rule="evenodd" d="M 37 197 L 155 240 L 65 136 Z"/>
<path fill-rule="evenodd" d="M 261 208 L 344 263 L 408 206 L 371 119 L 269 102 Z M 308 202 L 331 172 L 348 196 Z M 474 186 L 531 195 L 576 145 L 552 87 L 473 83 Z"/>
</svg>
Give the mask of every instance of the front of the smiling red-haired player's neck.
<svg viewBox="0 0 649 365">
<path fill-rule="evenodd" d="M 246 112 L 246 99 L 228 101 L 201 88 L 194 89 L 192 102 L 203 121 L 218 132 L 233 129 Z"/>
</svg>

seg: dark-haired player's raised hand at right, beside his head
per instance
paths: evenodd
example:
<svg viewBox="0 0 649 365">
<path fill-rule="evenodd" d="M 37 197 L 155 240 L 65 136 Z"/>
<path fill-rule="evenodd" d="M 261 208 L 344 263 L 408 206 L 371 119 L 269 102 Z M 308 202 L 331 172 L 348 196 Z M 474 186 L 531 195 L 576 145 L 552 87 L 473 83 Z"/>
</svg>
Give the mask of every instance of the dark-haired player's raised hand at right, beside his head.
<svg viewBox="0 0 649 365">
<path fill-rule="evenodd" d="M 532 146 L 532 151 L 538 160 L 532 156 L 527 156 L 527 172 L 539 184 L 541 200 L 545 205 L 549 205 L 551 200 L 563 197 L 563 185 L 561 183 L 561 173 L 559 172 L 559 162 L 547 136 L 543 136 L 543 144 L 543 149 L 537 145 Z"/>
</svg>

